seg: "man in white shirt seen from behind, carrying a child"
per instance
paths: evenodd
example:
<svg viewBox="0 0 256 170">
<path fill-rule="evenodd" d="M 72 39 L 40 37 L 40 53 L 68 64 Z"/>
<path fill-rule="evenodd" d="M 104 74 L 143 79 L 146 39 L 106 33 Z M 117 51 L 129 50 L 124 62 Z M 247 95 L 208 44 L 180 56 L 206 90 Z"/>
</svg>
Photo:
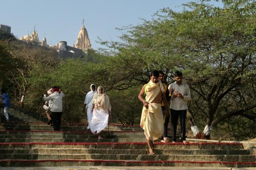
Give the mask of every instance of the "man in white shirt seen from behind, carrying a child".
<svg viewBox="0 0 256 170">
<path fill-rule="evenodd" d="M 44 94 L 44 100 L 49 101 L 52 100 L 52 108 L 50 111 L 52 112 L 52 123 L 54 131 L 60 131 L 60 123 L 62 116 L 62 98 L 64 97 L 64 93 L 61 92 L 59 87 L 52 87 L 52 94 L 50 96 L 46 96 Z"/>
</svg>

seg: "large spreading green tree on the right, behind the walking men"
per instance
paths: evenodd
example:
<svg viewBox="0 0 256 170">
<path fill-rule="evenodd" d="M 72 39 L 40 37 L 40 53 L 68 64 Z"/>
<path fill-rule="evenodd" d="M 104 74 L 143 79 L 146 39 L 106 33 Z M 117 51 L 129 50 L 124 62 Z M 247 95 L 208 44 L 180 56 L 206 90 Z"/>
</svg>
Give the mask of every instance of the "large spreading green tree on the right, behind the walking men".
<svg viewBox="0 0 256 170">
<path fill-rule="evenodd" d="M 255 5 L 250 0 L 226 0 L 224 8 L 188 3 L 182 12 L 163 8 L 152 21 L 120 29 L 126 31 L 123 42 L 103 42 L 116 55 L 111 68 L 118 77 L 111 80 L 119 83 L 113 88 L 143 84 L 153 69 L 164 70 L 172 82 L 173 71 L 181 70 L 201 126 L 243 116 L 255 127 Z"/>
</svg>

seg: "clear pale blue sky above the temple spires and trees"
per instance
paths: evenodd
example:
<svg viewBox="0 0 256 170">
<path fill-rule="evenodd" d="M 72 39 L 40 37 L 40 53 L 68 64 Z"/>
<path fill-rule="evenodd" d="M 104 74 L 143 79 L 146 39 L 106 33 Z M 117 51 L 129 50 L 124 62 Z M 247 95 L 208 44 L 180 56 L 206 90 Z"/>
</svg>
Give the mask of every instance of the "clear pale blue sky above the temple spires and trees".
<svg viewBox="0 0 256 170">
<path fill-rule="evenodd" d="M 83 24 L 88 31 L 92 48 L 101 46 L 96 41 L 120 41 L 120 31 L 129 25 L 151 20 L 161 8 L 181 11 L 182 4 L 196 0 L 0 0 L 0 24 L 8 25 L 17 38 L 35 30 L 48 44 L 66 41 L 76 43 Z M 197 1 L 196 1 L 197 2 Z M 221 2 L 210 4 L 221 6 Z"/>
</svg>

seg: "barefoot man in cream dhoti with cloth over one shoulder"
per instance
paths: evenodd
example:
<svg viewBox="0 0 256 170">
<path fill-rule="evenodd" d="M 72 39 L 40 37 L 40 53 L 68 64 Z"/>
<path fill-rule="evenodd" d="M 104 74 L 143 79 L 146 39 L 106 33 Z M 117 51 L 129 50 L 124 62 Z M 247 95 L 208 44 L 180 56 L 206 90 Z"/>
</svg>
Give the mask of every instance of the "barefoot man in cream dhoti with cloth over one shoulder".
<svg viewBox="0 0 256 170">
<path fill-rule="evenodd" d="M 140 127 L 144 129 L 147 139 L 149 155 L 154 155 L 153 141 L 160 138 L 164 132 L 164 118 L 161 109 L 161 99 L 164 100 L 165 113 L 168 113 L 168 102 L 164 93 L 164 86 L 159 81 L 159 72 L 154 70 L 150 74 L 150 81 L 140 90 L 138 96 L 143 103 Z M 146 95 L 145 100 L 143 98 Z"/>
</svg>

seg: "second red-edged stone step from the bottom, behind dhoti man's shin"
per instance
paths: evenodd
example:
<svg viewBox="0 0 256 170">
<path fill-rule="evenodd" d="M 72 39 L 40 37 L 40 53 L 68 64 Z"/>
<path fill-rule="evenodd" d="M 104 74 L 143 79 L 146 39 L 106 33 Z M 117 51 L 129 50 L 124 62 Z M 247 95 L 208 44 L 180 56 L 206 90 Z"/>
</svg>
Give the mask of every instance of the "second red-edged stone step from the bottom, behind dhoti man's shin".
<svg viewBox="0 0 256 170">
<path fill-rule="evenodd" d="M 154 143 L 156 149 L 195 150 L 244 150 L 240 143 Z M 8 148 L 87 148 L 87 149 L 148 149 L 146 142 L 123 143 L 0 143 L 1 149 Z M 248 151 L 248 150 L 246 150 Z"/>
</svg>

